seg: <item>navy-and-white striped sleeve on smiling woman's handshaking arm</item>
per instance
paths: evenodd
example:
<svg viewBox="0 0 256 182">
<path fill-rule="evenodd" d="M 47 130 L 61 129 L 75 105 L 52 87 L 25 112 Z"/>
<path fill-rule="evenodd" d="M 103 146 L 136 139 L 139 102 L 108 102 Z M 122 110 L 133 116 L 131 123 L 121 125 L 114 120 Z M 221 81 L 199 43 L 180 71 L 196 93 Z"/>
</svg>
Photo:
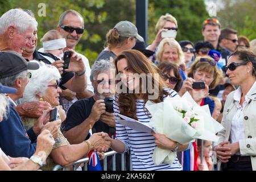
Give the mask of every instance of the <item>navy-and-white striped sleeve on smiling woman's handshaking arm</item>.
<svg viewBox="0 0 256 182">
<path fill-rule="evenodd" d="M 113 101 L 113 109 L 114 109 L 114 115 L 115 115 L 115 135 L 116 135 L 115 139 L 118 139 L 121 142 L 123 142 L 123 144 L 125 144 L 125 151 L 123 151 L 123 153 L 125 153 L 130 149 L 130 143 L 129 143 L 128 134 L 125 129 L 125 126 L 117 122 L 117 119 L 121 119 L 117 115 L 120 112 L 117 101 L 118 101 L 118 96 L 115 96 Z"/>
</svg>

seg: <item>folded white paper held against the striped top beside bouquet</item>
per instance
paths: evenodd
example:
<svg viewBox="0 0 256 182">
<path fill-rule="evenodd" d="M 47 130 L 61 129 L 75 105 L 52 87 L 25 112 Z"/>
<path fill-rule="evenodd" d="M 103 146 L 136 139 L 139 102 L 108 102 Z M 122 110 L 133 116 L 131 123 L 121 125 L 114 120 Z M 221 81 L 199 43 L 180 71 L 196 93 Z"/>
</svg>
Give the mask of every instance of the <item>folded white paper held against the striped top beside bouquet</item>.
<svg viewBox="0 0 256 182">
<path fill-rule="evenodd" d="M 131 129 L 138 131 L 138 132 L 144 132 L 144 133 L 151 133 L 152 131 L 155 132 L 154 127 L 151 127 L 147 123 L 139 122 L 135 119 L 126 117 L 125 115 L 118 114 L 119 117 L 122 119 L 117 119 L 117 122 L 122 124 L 123 126 L 130 127 Z"/>
</svg>

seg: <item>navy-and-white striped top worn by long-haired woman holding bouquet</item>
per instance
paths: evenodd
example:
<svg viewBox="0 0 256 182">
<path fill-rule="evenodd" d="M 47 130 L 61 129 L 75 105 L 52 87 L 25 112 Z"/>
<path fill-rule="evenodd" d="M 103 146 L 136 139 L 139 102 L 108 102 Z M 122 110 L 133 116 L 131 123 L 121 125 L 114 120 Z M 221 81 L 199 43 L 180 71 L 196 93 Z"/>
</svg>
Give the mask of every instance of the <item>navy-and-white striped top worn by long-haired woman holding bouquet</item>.
<svg viewBox="0 0 256 182">
<path fill-rule="evenodd" d="M 171 97 L 179 97 L 179 95 L 172 89 L 165 88 Z M 164 99 L 167 96 L 164 96 Z M 119 113 L 119 107 L 117 104 L 118 95 L 114 99 L 114 114 L 115 119 L 121 119 L 117 114 Z M 151 119 L 151 114 L 146 113 L 147 109 L 144 108 L 143 100 L 136 100 L 137 107 L 137 118 L 139 122 L 148 123 Z M 145 112 L 146 111 L 146 112 Z M 142 133 L 125 127 L 115 121 L 116 129 L 116 139 L 121 140 L 125 144 L 125 151 L 130 149 L 131 159 L 133 164 L 133 170 L 172 170 L 180 171 L 182 170 L 181 164 L 177 159 L 177 156 L 172 163 L 170 164 L 160 164 L 156 166 L 152 160 L 152 154 L 156 147 L 155 138 L 151 133 Z M 189 147 L 191 143 L 189 143 Z M 189 148 L 188 147 L 188 148 Z"/>
</svg>

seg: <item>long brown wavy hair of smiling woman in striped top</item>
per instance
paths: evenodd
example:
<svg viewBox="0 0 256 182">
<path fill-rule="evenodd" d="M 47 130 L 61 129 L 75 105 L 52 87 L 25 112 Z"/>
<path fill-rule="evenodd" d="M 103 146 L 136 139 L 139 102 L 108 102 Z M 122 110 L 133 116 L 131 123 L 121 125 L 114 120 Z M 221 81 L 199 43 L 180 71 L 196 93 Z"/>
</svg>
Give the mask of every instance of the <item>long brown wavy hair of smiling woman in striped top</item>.
<svg viewBox="0 0 256 182">
<path fill-rule="evenodd" d="M 118 69 L 117 69 L 117 63 L 121 59 L 126 59 L 127 60 L 127 66 L 129 70 L 132 73 L 146 73 L 147 74 L 152 74 L 152 83 L 151 85 L 154 87 L 155 82 L 158 83 L 158 89 L 156 90 L 153 88 L 154 93 L 159 92 L 159 97 L 156 98 L 156 100 L 151 100 L 152 102 L 158 103 L 163 101 L 163 96 L 168 95 L 168 93 L 163 89 L 164 87 L 167 87 L 163 78 L 159 76 L 159 68 L 155 66 L 154 63 L 152 63 L 150 60 L 147 59 L 146 56 L 143 55 L 143 53 L 137 51 L 137 50 L 126 50 L 121 52 L 119 54 L 114 63 L 115 63 L 115 76 L 118 75 Z M 158 77 L 158 79 L 155 78 Z M 146 78 L 146 82 L 148 81 L 148 77 Z M 117 81 L 120 82 L 120 81 Z M 139 88 L 140 90 L 142 89 L 142 82 L 140 80 L 139 83 Z M 144 85 L 145 86 L 145 85 Z M 146 85 L 147 86 L 147 85 Z M 147 87 L 146 87 L 147 88 Z M 127 117 L 133 118 L 133 119 L 138 119 L 137 118 L 137 111 L 136 111 L 136 100 L 137 98 L 142 98 L 144 100 L 144 104 L 148 101 L 148 96 L 154 95 L 154 93 L 150 94 L 148 93 L 148 90 L 146 89 L 146 93 L 119 93 L 118 94 L 118 106 L 120 110 L 120 114 L 126 115 Z M 146 107 L 144 107 L 146 113 L 148 113 Z"/>
</svg>

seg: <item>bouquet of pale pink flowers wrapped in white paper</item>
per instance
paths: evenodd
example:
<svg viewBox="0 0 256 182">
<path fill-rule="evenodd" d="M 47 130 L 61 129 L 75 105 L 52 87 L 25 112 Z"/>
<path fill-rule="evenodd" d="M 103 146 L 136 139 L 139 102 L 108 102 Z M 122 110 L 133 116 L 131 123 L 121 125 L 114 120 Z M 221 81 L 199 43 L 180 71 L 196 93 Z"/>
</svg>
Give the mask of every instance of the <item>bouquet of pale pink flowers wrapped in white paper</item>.
<svg viewBox="0 0 256 182">
<path fill-rule="evenodd" d="M 155 127 L 156 133 L 164 134 L 181 144 L 196 138 L 217 142 L 216 133 L 223 129 L 211 117 L 209 106 L 197 105 L 188 92 L 181 98 L 167 97 L 158 104 L 147 101 L 146 108 L 152 115 L 150 126 Z M 156 147 L 152 158 L 156 165 L 172 164 L 175 156 L 170 150 Z"/>
</svg>

